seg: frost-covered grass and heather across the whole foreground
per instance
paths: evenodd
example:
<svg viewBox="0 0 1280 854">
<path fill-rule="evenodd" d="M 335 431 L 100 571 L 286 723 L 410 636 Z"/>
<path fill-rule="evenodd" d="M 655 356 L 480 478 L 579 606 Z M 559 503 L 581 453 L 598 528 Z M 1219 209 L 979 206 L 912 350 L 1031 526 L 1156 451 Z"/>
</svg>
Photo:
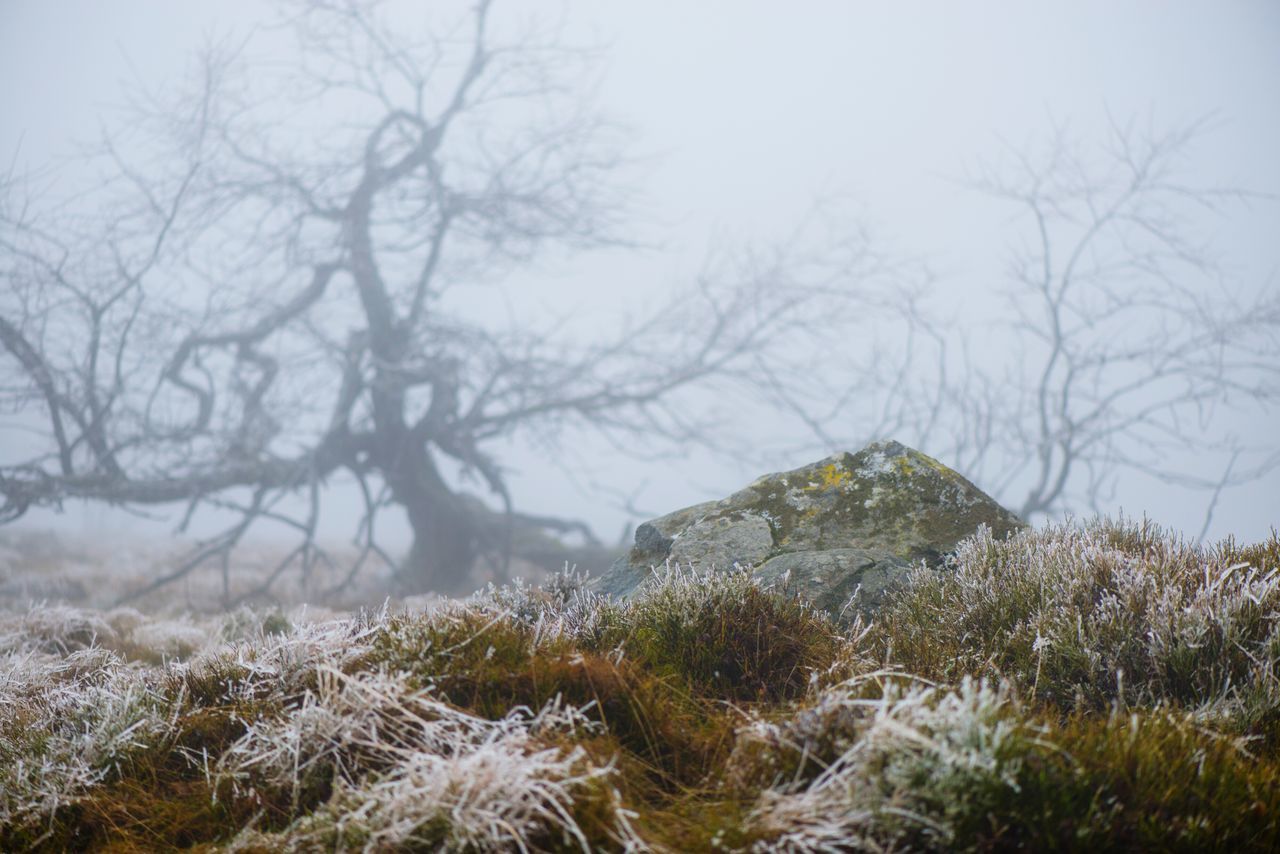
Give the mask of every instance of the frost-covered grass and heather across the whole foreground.
<svg viewBox="0 0 1280 854">
<path fill-rule="evenodd" d="M 0 850 L 1276 850 L 1280 542 L 984 533 L 874 621 L 746 572 L 0 617 Z"/>
</svg>

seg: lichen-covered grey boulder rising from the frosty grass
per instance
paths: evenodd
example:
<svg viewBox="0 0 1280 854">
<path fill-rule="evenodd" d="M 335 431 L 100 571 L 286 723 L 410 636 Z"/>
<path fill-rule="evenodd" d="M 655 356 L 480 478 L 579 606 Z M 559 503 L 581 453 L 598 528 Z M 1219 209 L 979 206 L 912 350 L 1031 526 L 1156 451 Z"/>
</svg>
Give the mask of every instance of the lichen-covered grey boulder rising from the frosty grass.
<svg viewBox="0 0 1280 854">
<path fill-rule="evenodd" d="M 979 525 L 997 536 L 1023 528 L 937 460 L 877 442 L 640 525 L 635 547 L 596 589 L 626 597 L 668 561 L 699 568 L 736 563 L 769 581 L 786 579 L 836 612 L 860 586 L 858 604 L 869 611 L 910 567 L 941 565 Z"/>
</svg>

